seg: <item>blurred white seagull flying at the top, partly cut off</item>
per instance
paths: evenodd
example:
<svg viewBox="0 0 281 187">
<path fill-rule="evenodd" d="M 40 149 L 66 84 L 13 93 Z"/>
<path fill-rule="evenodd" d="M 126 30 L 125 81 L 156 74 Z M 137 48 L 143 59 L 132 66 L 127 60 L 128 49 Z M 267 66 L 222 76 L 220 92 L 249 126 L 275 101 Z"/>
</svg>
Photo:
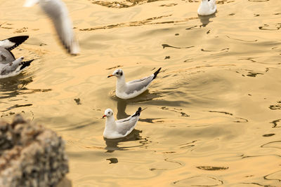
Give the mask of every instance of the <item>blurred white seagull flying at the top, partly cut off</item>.
<svg viewBox="0 0 281 187">
<path fill-rule="evenodd" d="M 79 53 L 79 43 L 74 36 L 72 22 L 68 16 L 68 11 L 60 0 L 26 0 L 24 7 L 31 7 L 34 4 L 39 4 L 43 11 L 53 21 L 55 31 L 57 32 L 61 43 L 67 49 L 67 52 L 72 55 Z"/>
</svg>

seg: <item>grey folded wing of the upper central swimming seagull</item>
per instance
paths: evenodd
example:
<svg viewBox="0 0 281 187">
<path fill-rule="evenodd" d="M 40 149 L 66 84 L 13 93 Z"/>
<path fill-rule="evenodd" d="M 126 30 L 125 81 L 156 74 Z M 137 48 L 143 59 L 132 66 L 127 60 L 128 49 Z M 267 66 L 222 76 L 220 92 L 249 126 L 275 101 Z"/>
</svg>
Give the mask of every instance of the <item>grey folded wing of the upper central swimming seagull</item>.
<svg viewBox="0 0 281 187">
<path fill-rule="evenodd" d="M 152 82 L 153 78 L 154 78 L 154 74 L 152 74 L 151 76 L 145 77 L 145 78 L 141 78 L 141 79 L 137 79 L 134 81 L 130 81 L 127 84 L 127 89 L 126 89 L 126 94 L 131 94 L 133 92 L 142 90 L 143 88 L 146 88 L 148 85 L 150 85 L 150 83 Z"/>
</svg>

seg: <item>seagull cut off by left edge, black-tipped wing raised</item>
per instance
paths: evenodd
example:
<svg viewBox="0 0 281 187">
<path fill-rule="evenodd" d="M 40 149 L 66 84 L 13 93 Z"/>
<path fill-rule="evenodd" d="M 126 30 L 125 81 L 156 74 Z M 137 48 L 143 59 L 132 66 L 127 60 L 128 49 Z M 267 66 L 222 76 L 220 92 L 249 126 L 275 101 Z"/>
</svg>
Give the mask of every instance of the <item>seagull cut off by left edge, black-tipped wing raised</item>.
<svg viewBox="0 0 281 187">
<path fill-rule="evenodd" d="M 23 69 L 30 66 L 33 60 L 22 62 L 24 57 L 15 59 L 15 56 L 11 52 L 11 50 L 26 41 L 28 37 L 29 36 L 15 36 L 0 41 L 0 78 L 17 76 Z"/>
</svg>

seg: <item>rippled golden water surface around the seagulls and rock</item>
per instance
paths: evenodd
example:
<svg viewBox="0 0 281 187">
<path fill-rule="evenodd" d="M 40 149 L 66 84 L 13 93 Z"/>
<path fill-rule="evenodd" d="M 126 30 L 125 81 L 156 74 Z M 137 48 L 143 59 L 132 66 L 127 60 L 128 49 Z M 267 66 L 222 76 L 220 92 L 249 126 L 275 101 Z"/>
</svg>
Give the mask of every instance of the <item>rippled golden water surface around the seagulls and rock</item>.
<svg viewBox="0 0 281 187">
<path fill-rule="evenodd" d="M 30 35 L 13 50 L 36 59 L 0 80 L 1 118 L 14 113 L 66 141 L 72 186 L 281 186 L 281 1 L 65 1 L 81 45 L 67 55 L 39 6 L 0 7 L 1 39 Z M 162 67 L 150 89 L 124 101 L 126 80 Z M 74 100 L 76 99 L 76 101 Z M 129 137 L 103 139 L 107 108 L 141 113 Z"/>
</svg>

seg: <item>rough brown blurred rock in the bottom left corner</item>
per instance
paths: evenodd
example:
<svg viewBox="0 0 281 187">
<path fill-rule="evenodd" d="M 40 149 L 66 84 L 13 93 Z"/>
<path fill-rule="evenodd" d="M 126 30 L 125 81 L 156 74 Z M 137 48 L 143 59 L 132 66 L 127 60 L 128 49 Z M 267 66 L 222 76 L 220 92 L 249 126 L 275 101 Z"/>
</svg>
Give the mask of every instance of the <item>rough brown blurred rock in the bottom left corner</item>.
<svg viewBox="0 0 281 187">
<path fill-rule="evenodd" d="M 20 115 L 0 122 L 0 186 L 56 186 L 68 169 L 65 143 L 55 132 Z"/>
</svg>

